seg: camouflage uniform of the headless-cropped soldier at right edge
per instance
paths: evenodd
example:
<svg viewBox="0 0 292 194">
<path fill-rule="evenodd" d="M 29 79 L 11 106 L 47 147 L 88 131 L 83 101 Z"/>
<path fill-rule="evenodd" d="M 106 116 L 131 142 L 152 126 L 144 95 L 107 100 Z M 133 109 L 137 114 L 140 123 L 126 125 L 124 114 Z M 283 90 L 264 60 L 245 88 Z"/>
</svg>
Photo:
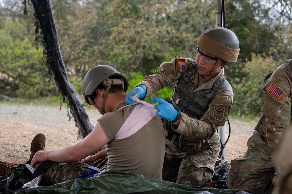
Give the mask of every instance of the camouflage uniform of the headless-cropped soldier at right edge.
<svg viewBox="0 0 292 194">
<path fill-rule="evenodd" d="M 263 193 L 274 175 L 274 154 L 291 122 L 291 66 L 290 59 L 278 67 L 263 88 L 263 115 L 248 139 L 244 156 L 231 161 L 227 188 Z"/>
</svg>

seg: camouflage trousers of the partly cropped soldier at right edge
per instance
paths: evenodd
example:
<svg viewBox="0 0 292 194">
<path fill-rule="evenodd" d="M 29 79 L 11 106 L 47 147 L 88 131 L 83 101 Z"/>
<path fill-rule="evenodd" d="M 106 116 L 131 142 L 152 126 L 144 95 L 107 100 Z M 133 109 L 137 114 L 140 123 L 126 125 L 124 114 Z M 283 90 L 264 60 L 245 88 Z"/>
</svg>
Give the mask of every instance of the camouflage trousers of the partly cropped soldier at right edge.
<svg viewBox="0 0 292 194">
<path fill-rule="evenodd" d="M 227 174 L 227 188 L 264 193 L 273 177 L 274 161 L 270 156 L 267 142 L 260 134 L 253 134 L 247 141 L 248 149 L 242 158 L 233 159 Z"/>
</svg>

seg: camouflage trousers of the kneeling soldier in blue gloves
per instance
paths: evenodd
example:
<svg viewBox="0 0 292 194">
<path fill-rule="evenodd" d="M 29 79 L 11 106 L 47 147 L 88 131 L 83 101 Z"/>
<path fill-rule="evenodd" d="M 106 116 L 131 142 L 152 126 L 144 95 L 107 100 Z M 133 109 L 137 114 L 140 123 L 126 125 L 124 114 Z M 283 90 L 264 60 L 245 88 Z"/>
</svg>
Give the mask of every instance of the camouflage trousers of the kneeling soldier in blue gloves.
<svg viewBox="0 0 292 194">
<path fill-rule="evenodd" d="M 162 180 L 185 185 L 204 186 L 214 175 L 214 165 L 220 151 L 217 133 L 206 140 L 195 153 L 186 154 L 173 140 L 166 140 Z"/>
</svg>

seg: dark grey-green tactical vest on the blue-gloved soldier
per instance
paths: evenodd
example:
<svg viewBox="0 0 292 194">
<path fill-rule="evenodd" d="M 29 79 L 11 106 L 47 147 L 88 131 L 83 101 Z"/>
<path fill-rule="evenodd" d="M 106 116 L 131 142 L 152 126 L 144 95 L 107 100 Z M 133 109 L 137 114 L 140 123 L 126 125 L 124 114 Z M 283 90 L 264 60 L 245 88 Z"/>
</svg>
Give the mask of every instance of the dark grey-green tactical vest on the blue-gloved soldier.
<svg viewBox="0 0 292 194">
<path fill-rule="evenodd" d="M 200 119 L 208 110 L 208 105 L 212 102 L 213 98 L 227 89 L 232 89 L 227 80 L 222 77 L 214 81 L 213 86 L 209 89 L 202 89 L 196 92 L 196 95 L 190 95 L 192 92 L 194 75 L 197 72 L 197 65 L 195 60 L 190 61 L 188 72 L 180 77 L 174 86 L 171 103 L 175 109 L 188 115 L 190 118 Z M 187 155 L 197 152 L 205 140 L 192 139 L 183 136 L 168 128 L 167 139 L 172 139 L 178 143 L 178 147 Z"/>
</svg>

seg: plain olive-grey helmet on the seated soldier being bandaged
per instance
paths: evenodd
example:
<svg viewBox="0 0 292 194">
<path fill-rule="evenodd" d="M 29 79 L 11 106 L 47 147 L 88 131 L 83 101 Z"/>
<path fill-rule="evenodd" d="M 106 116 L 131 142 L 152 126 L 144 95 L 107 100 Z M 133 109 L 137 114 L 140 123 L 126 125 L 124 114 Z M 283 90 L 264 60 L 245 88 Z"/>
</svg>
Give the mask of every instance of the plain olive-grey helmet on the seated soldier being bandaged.
<svg viewBox="0 0 292 194">
<path fill-rule="evenodd" d="M 117 77 L 118 79 L 108 79 L 111 76 Z M 91 104 L 88 100 L 88 96 L 91 96 L 101 83 L 105 86 L 121 85 L 125 92 L 129 87 L 126 77 L 115 68 L 107 65 L 95 66 L 86 73 L 82 82 L 82 94 L 87 104 Z"/>
</svg>

